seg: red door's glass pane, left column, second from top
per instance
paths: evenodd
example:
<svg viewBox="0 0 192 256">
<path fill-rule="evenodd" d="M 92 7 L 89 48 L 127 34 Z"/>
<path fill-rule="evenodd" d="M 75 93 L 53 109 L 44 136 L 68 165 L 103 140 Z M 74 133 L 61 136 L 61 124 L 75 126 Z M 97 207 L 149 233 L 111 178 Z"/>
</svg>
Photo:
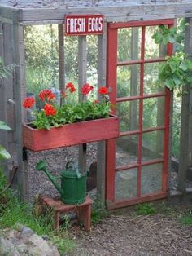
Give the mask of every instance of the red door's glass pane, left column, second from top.
<svg viewBox="0 0 192 256">
<path fill-rule="evenodd" d="M 139 95 L 140 65 L 117 67 L 117 97 Z"/>
</svg>

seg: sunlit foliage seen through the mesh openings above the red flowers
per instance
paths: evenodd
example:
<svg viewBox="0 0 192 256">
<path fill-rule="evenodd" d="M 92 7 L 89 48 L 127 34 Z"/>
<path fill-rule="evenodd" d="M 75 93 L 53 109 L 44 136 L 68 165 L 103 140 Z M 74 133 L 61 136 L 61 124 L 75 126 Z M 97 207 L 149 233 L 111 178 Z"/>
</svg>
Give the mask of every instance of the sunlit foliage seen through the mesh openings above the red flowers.
<svg viewBox="0 0 192 256">
<path fill-rule="evenodd" d="M 27 91 L 59 87 L 58 26 L 24 27 Z M 78 37 L 64 38 L 66 82 L 78 80 Z M 87 80 L 97 83 L 97 36 L 87 37 Z"/>
</svg>

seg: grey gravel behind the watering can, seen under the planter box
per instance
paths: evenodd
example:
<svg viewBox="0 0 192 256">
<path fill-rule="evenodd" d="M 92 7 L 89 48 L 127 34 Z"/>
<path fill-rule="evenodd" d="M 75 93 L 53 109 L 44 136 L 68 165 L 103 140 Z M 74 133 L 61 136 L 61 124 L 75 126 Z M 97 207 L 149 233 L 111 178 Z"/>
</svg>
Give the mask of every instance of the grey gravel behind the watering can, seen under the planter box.
<svg viewBox="0 0 192 256">
<path fill-rule="evenodd" d="M 38 194 L 45 196 L 58 196 L 54 185 L 46 177 L 44 172 L 36 170 L 38 161 L 45 160 L 50 173 L 59 178 L 68 161 L 78 161 L 78 147 L 57 148 L 42 152 L 30 152 L 28 157 L 29 201 Z M 87 166 L 97 161 L 97 143 L 89 143 L 87 146 Z"/>
</svg>

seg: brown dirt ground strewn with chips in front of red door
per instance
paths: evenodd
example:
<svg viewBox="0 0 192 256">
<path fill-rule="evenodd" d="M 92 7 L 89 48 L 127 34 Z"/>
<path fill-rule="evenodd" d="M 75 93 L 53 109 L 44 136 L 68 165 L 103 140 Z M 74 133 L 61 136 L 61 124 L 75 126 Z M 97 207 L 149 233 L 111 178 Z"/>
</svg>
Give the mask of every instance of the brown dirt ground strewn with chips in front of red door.
<svg viewBox="0 0 192 256">
<path fill-rule="evenodd" d="M 70 255 L 192 255 L 192 226 L 182 224 L 179 217 L 174 209 L 171 214 L 146 216 L 118 210 L 89 233 L 72 227 L 77 248 Z"/>
</svg>

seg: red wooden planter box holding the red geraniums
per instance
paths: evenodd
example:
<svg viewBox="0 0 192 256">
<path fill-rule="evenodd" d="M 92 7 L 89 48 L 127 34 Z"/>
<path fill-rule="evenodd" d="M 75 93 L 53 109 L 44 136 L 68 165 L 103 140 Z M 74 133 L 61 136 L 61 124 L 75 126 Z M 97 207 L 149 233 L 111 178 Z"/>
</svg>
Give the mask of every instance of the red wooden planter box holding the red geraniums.
<svg viewBox="0 0 192 256">
<path fill-rule="evenodd" d="M 50 130 L 37 130 L 23 125 L 24 147 L 35 152 L 117 138 L 118 135 L 119 118 L 116 116 L 76 122 Z"/>
</svg>

